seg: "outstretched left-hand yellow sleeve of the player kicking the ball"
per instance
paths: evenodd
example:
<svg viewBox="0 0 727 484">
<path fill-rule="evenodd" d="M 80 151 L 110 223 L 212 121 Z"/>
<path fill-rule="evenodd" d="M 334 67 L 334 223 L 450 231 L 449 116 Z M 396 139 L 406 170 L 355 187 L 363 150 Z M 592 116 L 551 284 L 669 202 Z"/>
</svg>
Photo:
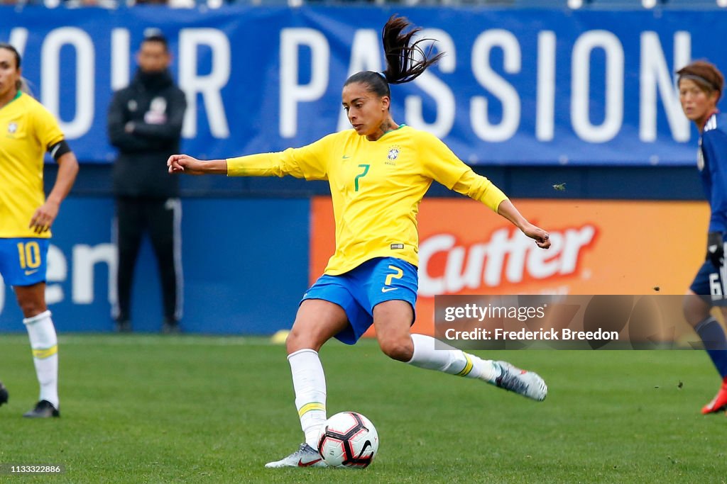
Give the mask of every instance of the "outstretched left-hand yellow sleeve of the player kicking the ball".
<svg viewBox="0 0 727 484">
<path fill-rule="evenodd" d="M 329 144 L 332 136 L 300 148 L 228 158 L 228 176 L 294 176 L 306 180 L 328 179 Z"/>
</svg>

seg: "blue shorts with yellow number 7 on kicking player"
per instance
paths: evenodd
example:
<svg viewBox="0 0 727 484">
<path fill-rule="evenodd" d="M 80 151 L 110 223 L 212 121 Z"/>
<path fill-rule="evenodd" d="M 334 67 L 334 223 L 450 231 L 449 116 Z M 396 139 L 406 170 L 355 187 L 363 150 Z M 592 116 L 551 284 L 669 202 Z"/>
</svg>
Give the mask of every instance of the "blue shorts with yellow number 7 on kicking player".
<svg viewBox="0 0 727 484">
<path fill-rule="evenodd" d="M 348 316 L 349 327 L 338 333 L 336 339 L 353 345 L 374 323 L 375 305 L 403 300 L 414 311 L 418 287 L 416 266 L 393 257 L 379 257 L 345 274 L 324 274 L 305 292 L 302 301 L 322 299 L 340 305 Z M 411 324 L 414 324 L 414 319 Z"/>
</svg>

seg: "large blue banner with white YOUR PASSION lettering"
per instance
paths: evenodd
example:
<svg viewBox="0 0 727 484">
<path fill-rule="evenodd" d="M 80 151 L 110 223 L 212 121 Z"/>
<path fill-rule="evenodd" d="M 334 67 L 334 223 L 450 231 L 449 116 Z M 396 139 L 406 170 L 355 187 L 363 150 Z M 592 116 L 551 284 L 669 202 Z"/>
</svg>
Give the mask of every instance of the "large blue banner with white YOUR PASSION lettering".
<svg viewBox="0 0 727 484">
<path fill-rule="evenodd" d="M 471 164 L 689 165 L 696 131 L 674 71 L 724 64 L 727 12 L 397 10 L 441 62 L 393 86 L 397 122 Z M 184 149 L 225 157 L 300 146 L 348 127 L 342 83 L 384 68 L 384 7 L 217 10 L 0 7 L 0 40 L 82 160 L 108 163 L 105 115 L 149 28 L 170 40 L 188 96 Z"/>
</svg>

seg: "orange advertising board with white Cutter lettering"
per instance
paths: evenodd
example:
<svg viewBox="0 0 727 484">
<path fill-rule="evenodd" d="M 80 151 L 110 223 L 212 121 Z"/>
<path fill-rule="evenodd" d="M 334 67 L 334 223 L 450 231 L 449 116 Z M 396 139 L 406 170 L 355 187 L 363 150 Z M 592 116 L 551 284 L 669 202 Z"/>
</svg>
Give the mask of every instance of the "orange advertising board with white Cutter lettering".
<svg viewBox="0 0 727 484">
<path fill-rule="evenodd" d="M 473 200 L 422 201 L 415 332 L 432 334 L 435 295 L 680 295 L 704 261 L 705 202 L 514 202 L 550 232 L 550 250 Z M 312 211 L 311 283 L 335 247 L 330 198 Z"/>
</svg>

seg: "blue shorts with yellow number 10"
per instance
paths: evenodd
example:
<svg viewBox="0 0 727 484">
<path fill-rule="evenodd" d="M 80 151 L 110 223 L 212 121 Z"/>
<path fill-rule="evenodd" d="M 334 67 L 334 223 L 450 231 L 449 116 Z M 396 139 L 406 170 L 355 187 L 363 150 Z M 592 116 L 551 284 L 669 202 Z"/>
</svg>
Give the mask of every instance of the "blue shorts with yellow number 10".
<svg viewBox="0 0 727 484">
<path fill-rule="evenodd" d="M 45 281 L 50 239 L 0 239 L 0 275 L 5 284 L 32 286 Z"/>
</svg>

